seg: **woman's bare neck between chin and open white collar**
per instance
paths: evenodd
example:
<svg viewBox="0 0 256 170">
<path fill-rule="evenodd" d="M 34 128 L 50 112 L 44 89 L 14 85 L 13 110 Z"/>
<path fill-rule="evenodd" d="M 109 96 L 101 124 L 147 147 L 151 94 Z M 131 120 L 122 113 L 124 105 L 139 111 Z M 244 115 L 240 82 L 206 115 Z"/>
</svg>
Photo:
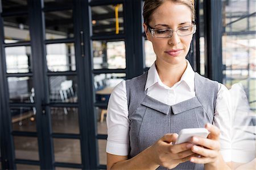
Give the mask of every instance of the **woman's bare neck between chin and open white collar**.
<svg viewBox="0 0 256 170">
<path fill-rule="evenodd" d="M 185 60 L 179 64 L 161 63 L 156 60 L 155 65 L 160 80 L 169 87 L 180 81 L 181 76 L 187 68 L 187 62 Z"/>
</svg>

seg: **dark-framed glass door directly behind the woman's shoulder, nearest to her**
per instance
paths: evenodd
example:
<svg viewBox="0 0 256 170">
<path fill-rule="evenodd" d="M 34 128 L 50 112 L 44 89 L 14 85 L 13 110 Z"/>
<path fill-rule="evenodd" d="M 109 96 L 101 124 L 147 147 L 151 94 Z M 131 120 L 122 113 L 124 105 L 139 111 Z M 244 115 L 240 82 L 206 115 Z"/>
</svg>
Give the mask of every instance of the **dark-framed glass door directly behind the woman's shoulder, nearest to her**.
<svg viewBox="0 0 256 170">
<path fill-rule="evenodd" d="M 106 114 L 114 87 L 126 78 L 143 73 L 143 1 L 99 1 L 83 3 L 82 28 L 85 32 L 85 72 L 92 86 L 89 114 L 91 163 L 106 169 Z M 88 64 L 88 65 L 87 65 Z M 136 68 L 136 69 L 135 69 Z M 88 85 L 88 86 L 89 86 Z"/>
</svg>

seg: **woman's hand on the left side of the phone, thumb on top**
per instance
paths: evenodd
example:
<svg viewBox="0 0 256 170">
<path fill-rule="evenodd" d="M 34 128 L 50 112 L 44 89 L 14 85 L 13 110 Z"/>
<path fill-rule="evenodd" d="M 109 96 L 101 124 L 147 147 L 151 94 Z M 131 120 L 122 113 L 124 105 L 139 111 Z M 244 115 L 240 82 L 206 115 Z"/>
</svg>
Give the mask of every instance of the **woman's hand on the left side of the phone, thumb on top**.
<svg viewBox="0 0 256 170">
<path fill-rule="evenodd" d="M 177 134 L 166 134 L 160 138 L 154 145 L 148 148 L 150 153 L 148 159 L 155 164 L 168 169 L 175 168 L 180 163 L 188 161 L 197 154 L 191 151 L 191 143 L 172 144 L 177 140 Z"/>
</svg>

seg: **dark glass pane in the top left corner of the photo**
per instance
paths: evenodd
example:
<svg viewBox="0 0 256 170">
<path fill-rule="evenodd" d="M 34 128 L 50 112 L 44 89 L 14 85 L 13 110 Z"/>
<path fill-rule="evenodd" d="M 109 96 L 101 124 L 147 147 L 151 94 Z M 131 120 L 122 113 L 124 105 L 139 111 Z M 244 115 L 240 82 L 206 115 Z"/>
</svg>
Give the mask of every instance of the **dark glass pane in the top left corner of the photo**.
<svg viewBox="0 0 256 170">
<path fill-rule="evenodd" d="M 27 10 L 27 0 L 2 1 L 3 12 Z"/>
</svg>

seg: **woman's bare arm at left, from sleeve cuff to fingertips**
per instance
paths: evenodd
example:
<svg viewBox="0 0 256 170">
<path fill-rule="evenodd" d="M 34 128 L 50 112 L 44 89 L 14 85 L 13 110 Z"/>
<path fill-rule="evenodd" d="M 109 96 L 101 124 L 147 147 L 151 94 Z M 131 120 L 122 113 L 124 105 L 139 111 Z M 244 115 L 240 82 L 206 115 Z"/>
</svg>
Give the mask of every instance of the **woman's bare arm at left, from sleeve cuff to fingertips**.
<svg viewBox="0 0 256 170">
<path fill-rule="evenodd" d="M 166 134 L 154 145 L 146 148 L 131 159 L 127 156 L 107 154 L 108 169 L 156 169 L 159 165 L 168 169 L 175 168 L 180 163 L 196 156 L 190 148 L 192 144 L 182 143 L 173 145 L 177 134 Z"/>
</svg>

